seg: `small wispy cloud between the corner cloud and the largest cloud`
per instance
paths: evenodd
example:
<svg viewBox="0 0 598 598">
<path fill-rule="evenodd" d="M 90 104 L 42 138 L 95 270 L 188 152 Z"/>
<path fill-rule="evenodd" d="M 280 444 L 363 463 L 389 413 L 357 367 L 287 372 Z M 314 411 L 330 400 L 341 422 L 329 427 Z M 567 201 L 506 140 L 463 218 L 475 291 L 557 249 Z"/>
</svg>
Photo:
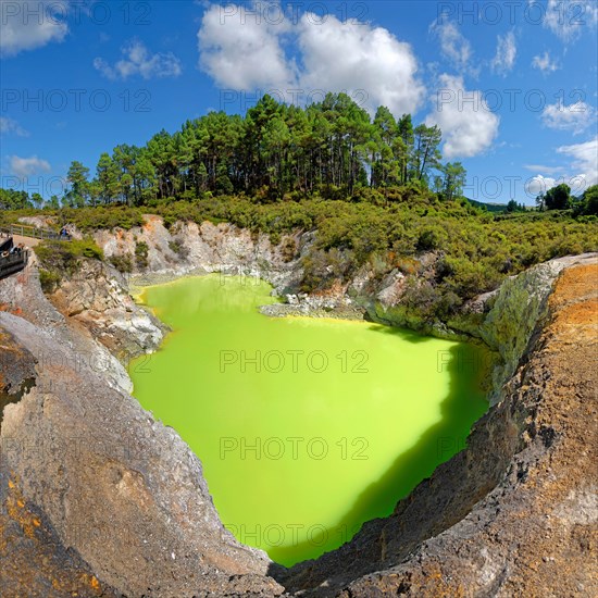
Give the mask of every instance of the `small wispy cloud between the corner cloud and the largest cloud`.
<svg viewBox="0 0 598 598">
<path fill-rule="evenodd" d="M 180 61 L 172 53 L 151 54 L 144 42 L 132 40 L 121 49 L 125 57 L 110 66 L 101 58 L 94 60 L 94 66 L 109 79 L 127 79 L 140 75 L 145 79 L 153 77 L 177 77 L 182 73 Z"/>
</svg>

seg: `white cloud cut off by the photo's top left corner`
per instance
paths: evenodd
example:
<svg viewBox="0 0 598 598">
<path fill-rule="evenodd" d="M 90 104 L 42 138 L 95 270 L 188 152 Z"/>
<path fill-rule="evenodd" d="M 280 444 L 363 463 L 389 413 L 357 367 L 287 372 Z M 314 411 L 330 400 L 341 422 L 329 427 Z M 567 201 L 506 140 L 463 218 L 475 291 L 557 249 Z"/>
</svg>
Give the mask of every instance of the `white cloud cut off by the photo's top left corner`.
<svg viewBox="0 0 598 598">
<path fill-rule="evenodd" d="M 24 50 L 62 41 L 68 33 L 66 0 L 2 1 L 0 54 L 12 57 Z"/>
</svg>

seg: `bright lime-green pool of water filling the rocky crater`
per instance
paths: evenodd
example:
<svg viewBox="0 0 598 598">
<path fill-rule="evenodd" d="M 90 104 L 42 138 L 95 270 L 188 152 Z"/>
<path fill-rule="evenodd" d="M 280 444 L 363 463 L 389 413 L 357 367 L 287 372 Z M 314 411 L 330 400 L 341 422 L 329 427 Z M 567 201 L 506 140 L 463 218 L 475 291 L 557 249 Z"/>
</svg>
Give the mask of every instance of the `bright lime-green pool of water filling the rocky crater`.
<svg viewBox="0 0 598 598">
<path fill-rule="evenodd" d="M 130 374 L 141 404 L 201 459 L 224 524 L 288 565 L 390 513 L 463 448 L 487 402 L 473 347 L 266 317 L 269 292 L 215 275 L 147 288 L 174 332 Z"/>
</svg>

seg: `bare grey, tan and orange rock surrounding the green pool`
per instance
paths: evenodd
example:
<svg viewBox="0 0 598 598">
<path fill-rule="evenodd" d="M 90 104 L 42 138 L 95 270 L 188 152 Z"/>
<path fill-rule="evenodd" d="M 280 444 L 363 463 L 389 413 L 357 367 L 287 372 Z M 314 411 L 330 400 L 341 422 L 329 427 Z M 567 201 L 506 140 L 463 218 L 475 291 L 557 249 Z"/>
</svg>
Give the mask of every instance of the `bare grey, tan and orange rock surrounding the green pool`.
<svg viewBox="0 0 598 598">
<path fill-rule="evenodd" d="M 195 266 L 248 254 L 242 236 L 192 234 Z M 251 256 L 292 279 L 265 245 Z M 474 331 L 500 360 L 469 447 L 389 518 L 290 570 L 223 528 L 200 461 L 129 396 L 115 354 L 164 331 L 112 269 L 86 267 L 52 302 L 35 265 L 0 282 L 2 597 L 598 595 L 596 256 L 501 287 Z M 381 306 L 370 315 L 396 323 Z"/>
</svg>

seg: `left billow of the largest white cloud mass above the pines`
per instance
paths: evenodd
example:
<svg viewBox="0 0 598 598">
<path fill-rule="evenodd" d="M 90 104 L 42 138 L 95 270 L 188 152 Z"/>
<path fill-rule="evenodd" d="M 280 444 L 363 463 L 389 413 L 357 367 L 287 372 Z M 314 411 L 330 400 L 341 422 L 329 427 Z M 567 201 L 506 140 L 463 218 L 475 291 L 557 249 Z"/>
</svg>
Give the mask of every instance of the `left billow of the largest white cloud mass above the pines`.
<svg viewBox="0 0 598 598">
<path fill-rule="evenodd" d="M 197 34 L 201 68 L 221 87 L 236 90 L 295 87 L 295 68 L 282 47 L 284 28 L 245 16 L 242 7 L 228 8 L 235 17 L 224 18 L 216 4 L 203 14 Z"/>
</svg>

